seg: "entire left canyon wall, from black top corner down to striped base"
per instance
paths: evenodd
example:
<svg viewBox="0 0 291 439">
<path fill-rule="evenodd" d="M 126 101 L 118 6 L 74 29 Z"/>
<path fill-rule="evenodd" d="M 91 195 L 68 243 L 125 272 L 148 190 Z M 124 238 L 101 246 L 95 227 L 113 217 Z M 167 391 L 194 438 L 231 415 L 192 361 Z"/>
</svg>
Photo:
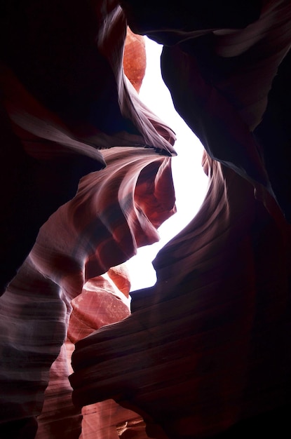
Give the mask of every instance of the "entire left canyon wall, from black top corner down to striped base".
<svg viewBox="0 0 291 439">
<path fill-rule="evenodd" d="M 111 2 L 80 6 L 7 3 L 2 15 L 1 438 L 79 437 L 64 344 L 71 301 L 108 270 L 128 295 L 124 269 L 111 267 L 155 242 L 175 212 L 175 135 L 123 75 L 124 14 Z M 115 302 L 121 312 L 97 313 L 92 330 L 128 315 Z M 120 411 L 112 428 L 135 424 Z"/>
</svg>

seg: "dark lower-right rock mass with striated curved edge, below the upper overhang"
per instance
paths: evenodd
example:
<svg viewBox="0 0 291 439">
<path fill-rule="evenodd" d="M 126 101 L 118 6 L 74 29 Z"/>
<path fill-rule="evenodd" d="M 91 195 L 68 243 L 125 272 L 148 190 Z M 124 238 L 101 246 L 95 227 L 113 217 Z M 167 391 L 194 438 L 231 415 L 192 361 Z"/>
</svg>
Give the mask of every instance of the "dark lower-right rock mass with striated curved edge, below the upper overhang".
<svg viewBox="0 0 291 439">
<path fill-rule="evenodd" d="M 156 258 L 156 285 L 73 354 L 74 402 L 114 398 L 156 438 L 154 423 L 172 439 L 208 438 L 290 398 L 290 226 L 264 190 L 256 198 L 208 166 L 208 195 Z"/>
</svg>

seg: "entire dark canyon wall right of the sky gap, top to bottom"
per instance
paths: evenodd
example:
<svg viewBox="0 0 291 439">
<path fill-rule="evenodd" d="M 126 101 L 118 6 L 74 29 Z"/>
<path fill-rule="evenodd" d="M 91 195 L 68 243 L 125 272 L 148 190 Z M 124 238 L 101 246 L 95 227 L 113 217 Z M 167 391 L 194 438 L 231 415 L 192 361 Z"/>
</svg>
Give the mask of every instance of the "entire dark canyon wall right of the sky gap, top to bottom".
<svg viewBox="0 0 291 439">
<path fill-rule="evenodd" d="M 158 254 L 155 287 L 133 293 L 132 316 L 76 344 L 74 401 L 114 398 L 139 411 L 156 438 L 157 426 L 172 439 L 236 438 L 253 428 L 284 435 L 290 4 L 244 2 L 238 15 L 224 1 L 122 5 L 135 32 L 165 44 L 163 78 L 209 154 L 210 189 Z"/>
</svg>

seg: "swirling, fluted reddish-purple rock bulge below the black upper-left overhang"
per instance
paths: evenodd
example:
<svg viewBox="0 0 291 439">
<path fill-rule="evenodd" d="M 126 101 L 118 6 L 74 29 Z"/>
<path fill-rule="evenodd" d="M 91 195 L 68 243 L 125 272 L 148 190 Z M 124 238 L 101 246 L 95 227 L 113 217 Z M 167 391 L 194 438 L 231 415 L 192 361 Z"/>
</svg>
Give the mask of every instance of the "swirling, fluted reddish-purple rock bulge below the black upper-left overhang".
<svg viewBox="0 0 291 439">
<path fill-rule="evenodd" d="M 107 168 L 83 177 L 72 201 L 43 224 L 1 297 L 1 376 L 7 389 L 2 421 L 41 412 L 50 365 L 65 341 L 70 302 L 83 284 L 126 261 L 138 245 L 157 241 L 156 227 L 175 212 L 170 158 L 131 147 L 112 148 L 104 156 Z M 145 207 L 139 203 L 143 193 Z M 151 205 L 158 209 L 151 212 Z M 99 325 L 112 321 L 97 318 Z"/>
</svg>

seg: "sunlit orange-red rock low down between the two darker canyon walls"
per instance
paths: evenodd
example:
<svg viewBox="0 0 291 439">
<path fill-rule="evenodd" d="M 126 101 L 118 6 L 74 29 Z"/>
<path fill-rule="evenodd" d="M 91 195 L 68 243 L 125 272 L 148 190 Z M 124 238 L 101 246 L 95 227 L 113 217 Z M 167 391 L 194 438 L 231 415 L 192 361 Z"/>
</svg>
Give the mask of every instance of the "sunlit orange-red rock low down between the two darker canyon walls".
<svg viewBox="0 0 291 439">
<path fill-rule="evenodd" d="M 124 267 L 114 267 L 111 272 Z M 119 277 L 117 278 L 119 282 Z M 136 438 L 146 439 L 144 421 L 135 412 L 126 410 L 114 400 L 107 400 L 78 410 L 72 403 L 72 388 L 68 375 L 74 342 L 90 335 L 103 325 L 114 323 L 130 314 L 129 302 L 114 283 L 97 276 L 84 285 L 81 295 L 72 301 L 68 339 L 60 355 L 50 367 L 50 381 L 45 393 L 36 439 L 92 437 L 118 439 L 134 432 Z M 127 302 L 127 304 L 126 304 Z M 69 419 L 69 422 L 67 422 Z"/>
</svg>

